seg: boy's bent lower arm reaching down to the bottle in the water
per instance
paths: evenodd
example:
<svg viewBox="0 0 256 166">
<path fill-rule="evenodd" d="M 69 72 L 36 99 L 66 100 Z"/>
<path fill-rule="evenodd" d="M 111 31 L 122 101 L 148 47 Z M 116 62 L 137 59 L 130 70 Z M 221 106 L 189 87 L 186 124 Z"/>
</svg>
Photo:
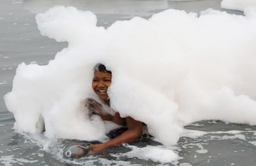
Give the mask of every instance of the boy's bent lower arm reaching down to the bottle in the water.
<svg viewBox="0 0 256 166">
<path fill-rule="evenodd" d="M 132 142 L 137 139 L 140 139 L 140 136 L 142 135 L 142 122 L 139 122 L 137 120 L 134 120 L 131 117 L 125 118 L 128 130 L 116 137 L 115 139 L 112 139 L 110 141 L 104 142 L 102 144 L 91 144 L 89 148 L 92 152 L 100 152 L 104 150 L 105 148 L 116 146 L 121 143 L 127 143 Z"/>
</svg>

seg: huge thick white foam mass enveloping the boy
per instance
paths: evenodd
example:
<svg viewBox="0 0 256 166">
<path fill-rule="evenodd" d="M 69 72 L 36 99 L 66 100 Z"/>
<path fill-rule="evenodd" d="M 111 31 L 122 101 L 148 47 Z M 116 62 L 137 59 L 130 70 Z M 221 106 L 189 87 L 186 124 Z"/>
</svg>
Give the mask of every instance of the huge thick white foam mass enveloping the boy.
<svg viewBox="0 0 256 166">
<path fill-rule="evenodd" d="M 36 16 L 42 35 L 67 41 L 48 65 L 18 66 L 5 95 L 15 127 L 47 137 L 102 139 L 110 125 L 84 107 L 93 67 L 112 71 L 111 107 L 144 122 L 156 141 L 175 144 L 198 120 L 256 124 L 256 11 L 245 16 L 165 10 L 110 27 L 74 7 Z M 72 24 L 70 24 L 72 23 Z"/>
</svg>

